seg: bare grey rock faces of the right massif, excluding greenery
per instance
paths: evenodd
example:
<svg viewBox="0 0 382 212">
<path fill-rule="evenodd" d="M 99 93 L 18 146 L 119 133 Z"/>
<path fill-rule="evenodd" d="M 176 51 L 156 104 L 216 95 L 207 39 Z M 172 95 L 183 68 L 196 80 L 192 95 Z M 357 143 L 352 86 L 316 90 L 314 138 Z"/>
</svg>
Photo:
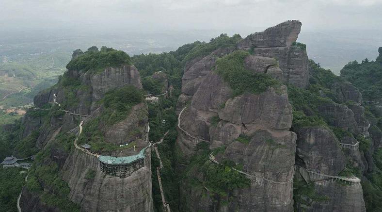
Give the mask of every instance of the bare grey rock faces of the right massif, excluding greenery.
<svg viewBox="0 0 382 212">
<path fill-rule="evenodd" d="M 304 45 L 295 43 L 301 26 L 299 21 L 286 21 L 239 41 L 237 49 L 251 53 L 244 59 L 244 67 L 307 89 L 310 72 L 314 70 L 310 67 Z M 313 196 L 301 196 L 297 192 L 301 198 L 298 206 L 295 205 L 297 211 L 365 211 L 360 184 L 342 188 L 331 178 L 311 181 L 309 176 L 303 179 L 298 177 L 300 173 L 294 172 L 295 165 L 327 176 L 341 174 L 348 165 L 362 171 L 370 169 L 370 154 L 362 153 L 354 138 L 358 134 L 368 136 L 370 127 L 358 89 L 349 82 L 334 80 L 330 87 L 325 87 L 325 92 L 319 91 L 322 98 L 331 99 L 319 102 L 314 112 L 311 111 L 319 114 L 326 125 L 295 127 L 292 132 L 292 107 L 286 86 L 269 87 L 260 94 L 244 93 L 234 97 L 228 83 L 213 71 L 215 53 L 186 64 L 183 94 L 178 98 L 176 108 L 178 112 L 185 108 L 179 117 L 176 145 L 192 163 L 200 143 L 207 143 L 209 149 L 219 149 L 214 155 L 217 162 L 228 160 L 240 164 L 244 173 L 255 177 L 251 179 L 249 188 L 229 193 L 230 200 L 224 206 L 220 204 L 222 199 L 216 200 L 209 192 L 208 186 L 188 186 L 186 180 L 182 182 L 184 189 L 180 194 L 180 204 L 185 211 L 293 211 L 293 178 L 301 179 L 300 182 L 308 180 L 308 187 L 313 186 L 309 188 L 314 190 L 311 191 Z M 317 83 L 317 79 L 313 79 L 313 83 Z M 187 102 L 190 103 L 186 107 Z M 334 134 L 332 127 L 338 132 L 348 131 L 347 136 L 337 137 L 340 135 Z M 374 132 L 373 136 L 380 134 Z M 248 140 L 243 143 L 238 139 L 241 136 Z M 182 164 L 182 168 L 187 169 L 187 163 Z M 204 174 L 195 169 L 191 169 L 190 177 L 200 182 L 205 179 Z M 201 195 L 207 197 L 201 199 Z"/>
</svg>

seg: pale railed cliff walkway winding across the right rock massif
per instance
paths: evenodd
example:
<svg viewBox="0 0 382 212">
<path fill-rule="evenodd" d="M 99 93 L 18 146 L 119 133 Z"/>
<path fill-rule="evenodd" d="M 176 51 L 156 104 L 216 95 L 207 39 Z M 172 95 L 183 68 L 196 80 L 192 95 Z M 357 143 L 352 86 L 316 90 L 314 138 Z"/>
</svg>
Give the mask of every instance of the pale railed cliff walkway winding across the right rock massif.
<svg viewBox="0 0 382 212">
<path fill-rule="evenodd" d="M 191 139 L 193 139 L 193 140 L 196 140 L 196 141 L 199 141 L 199 142 L 206 142 L 206 143 L 209 143 L 209 141 L 207 141 L 207 140 L 200 139 L 200 138 L 197 138 L 197 137 L 195 137 L 195 136 L 192 136 L 190 133 L 188 133 L 186 130 L 184 130 L 184 129 L 182 129 L 182 128 L 180 127 L 181 115 L 182 115 L 183 111 L 184 111 L 186 108 L 187 108 L 187 106 L 184 107 L 184 108 L 182 109 L 182 111 L 180 111 L 179 116 L 178 116 L 178 125 L 177 125 L 177 126 L 178 126 L 179 130 L 181 130 L 181 131 L 183 132 L 184 135 L 186 135 L 187 137 L 189 137 L 189 138 L 191 138 Z M 354 145 L 351 145 L 351 144 L 341 144 L 341 146 L 343 146 L 343 147 L 345 147 L 345 146 L 346 146 L 346 147 L 356 147 L 356 146 L 358 146 L 358 145 L 359 145 L 359 142 L 357 142 L 357 143 L 354 144 Z M 219 164 L 219 162 L 215 160 L 215 157 L 214 157 L 212 154 L 210 154 L 209 160 L 212 161 L 213 163 L 217 163 L 217 164 Z M 248 177 L 248 178 L 250 178 L 250 179 L 263 179 L 263 180 L 265 180 L 265 181 L 268 181 L 268 182 L 271 182 L 271 183 L 276 183 L 276 184 L 287 184 L 287 183 L 290 183 L 290 182 L 293 180 L 293 176 L 292 176 L 292 178 L 289 179 L 289 180 L 287 180 L 287 181 L 283 181 L 283 182 L 281 182 L 281 181 L 275 181 L 275 180 L 267 179 L 267 178 L 264 178 L 264 177 L 261 177 L 261 176 L 256 176 L 256 175 L 253 175 L 253 174 L 251 175 L 251 174 L 249 174 L 249 173 L 240 171 L 240 170 L 235 169 L 235 168 L 233 168 L 233 167 L 231 167 L 231 168 L 232 168 L 233 170 L 235 170 L 235 171 L 237 171 L 237 172 L 239 172 L 239 173 L 245 175 L 246 177 Z M 302 168 L 302 169 L 305 169 L 305 168 L 303 168 L 303 167 L 301 167 L 301 168 Z M 306 170 L 306 169 L 305 169 L 305 170 Z M 321 178 L 325 178 L 325 179 L 332 179 L 332 181 L 341 181 L 341 182 L 345 181 L 345 182 L 349 182 L 349 184 L 359 184 L 360 181 L 361 181 L 360 179 L 355 178 L 355 177 L 354 177 L 354 178 L 344 178 L 344 177 L 339 177 L 339 176 L 331 176 L 331 175 L 325 175 L 325 174 L 317 173 L 317 172 L 310 171 L 310 170 L 306 170 L 306 172 L 309 173 L 309 175 L 312 176 L 312 179 L 313 179 L 314 177 L 316 177 L 316 178 L 317 178 L 317 177 L 321 177 Z"/>
</svg>

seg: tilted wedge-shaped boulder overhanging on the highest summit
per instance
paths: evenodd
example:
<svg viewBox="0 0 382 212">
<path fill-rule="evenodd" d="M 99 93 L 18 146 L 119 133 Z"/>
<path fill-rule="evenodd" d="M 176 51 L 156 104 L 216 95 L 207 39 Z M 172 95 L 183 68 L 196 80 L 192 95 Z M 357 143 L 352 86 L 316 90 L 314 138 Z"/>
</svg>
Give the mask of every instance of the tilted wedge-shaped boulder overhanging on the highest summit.
<svg viewBox="0 0 382 212">
<path fill-rule="evenodd" d="M 239 49 L 264 47 L 286 47 L 295 42 L 299 36 L 302 23 L 290 20 L 270 27 L 261 33 L 253 33 L 239 42 Z"/>
</svg>

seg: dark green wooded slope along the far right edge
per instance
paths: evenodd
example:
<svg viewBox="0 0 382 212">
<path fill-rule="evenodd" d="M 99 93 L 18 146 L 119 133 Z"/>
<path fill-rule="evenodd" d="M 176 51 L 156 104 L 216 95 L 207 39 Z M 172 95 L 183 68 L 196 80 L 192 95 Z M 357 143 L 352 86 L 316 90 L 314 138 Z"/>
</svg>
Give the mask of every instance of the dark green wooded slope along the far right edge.
<svg viewBox="0 0 382 212">
<path fill-rule="evenodd" d="M 341 70 L 341 77 L 351 82 L 362 93 L 363 100 L 382 101 L 382 48 L 378 49 L 380 55 L 376 61 L 367 58 L 361 63 L 349 62 Z M 375 167 L 364 173 L 362 189 L 366 211 L 379 212 L 382 210 L 382 150 L 379 148 L 382 127 L 382 113 L 380 105 L 365 102 L 365 117 L 370 122 L 370 137 L 357 136 L 360 150 L 367 157 L 372 156 Z"/>
</svg>

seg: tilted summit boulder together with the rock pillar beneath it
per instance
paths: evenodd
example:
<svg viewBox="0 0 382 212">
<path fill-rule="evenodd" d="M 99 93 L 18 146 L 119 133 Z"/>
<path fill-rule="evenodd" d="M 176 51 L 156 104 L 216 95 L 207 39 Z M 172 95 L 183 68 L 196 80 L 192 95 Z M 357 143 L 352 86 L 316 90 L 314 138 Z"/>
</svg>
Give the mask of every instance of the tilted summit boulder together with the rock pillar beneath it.
<svg viewBox="0 0 382 212">
<path fill-rule="evenodd" d="M 261 33 L 248 35 L 238 49 L 252 50 L 253 55 L 275 58 L 283 71 L 283 81 L 306 88 L 309 85 L 309 61 L 304 48 L 293 46 L 302 23 L 286 21 Z"/>
</svg>

